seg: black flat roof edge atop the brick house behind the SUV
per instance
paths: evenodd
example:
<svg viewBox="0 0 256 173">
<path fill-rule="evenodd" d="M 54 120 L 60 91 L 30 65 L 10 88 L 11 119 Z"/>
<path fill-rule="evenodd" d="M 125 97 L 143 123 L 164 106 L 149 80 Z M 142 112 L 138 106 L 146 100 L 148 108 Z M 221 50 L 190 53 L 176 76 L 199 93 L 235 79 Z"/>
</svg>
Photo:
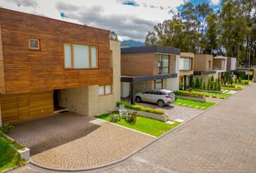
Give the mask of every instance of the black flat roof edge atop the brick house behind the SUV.
<svg viewBox="0 0 256 173">
<path fill-rule="evenodd" d="M 121 48 L 121 54 L 135 54 L 135 53 L 163 53 L 163 54 L 173 54 L 180 55 L 181 50 L 179 48 L 171 48 L 160 45 L 150 45 L 150 46 L 139 46 L 130 48 Z"/>
</svg>

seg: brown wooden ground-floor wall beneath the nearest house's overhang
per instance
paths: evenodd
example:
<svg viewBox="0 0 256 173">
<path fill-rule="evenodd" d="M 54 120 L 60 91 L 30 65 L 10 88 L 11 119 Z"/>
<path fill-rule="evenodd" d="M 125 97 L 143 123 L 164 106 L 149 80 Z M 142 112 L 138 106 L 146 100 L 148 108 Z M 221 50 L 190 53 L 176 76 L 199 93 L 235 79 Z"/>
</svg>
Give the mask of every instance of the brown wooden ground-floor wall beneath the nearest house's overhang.
<svg viewBox="0 0 256 173">
<path fill-rule="evenodd" d="M 4 94 L 0 96 L 2 123 L 19 123 L 44 115 L 53 115 L 53 92 Z"/>
</svg>

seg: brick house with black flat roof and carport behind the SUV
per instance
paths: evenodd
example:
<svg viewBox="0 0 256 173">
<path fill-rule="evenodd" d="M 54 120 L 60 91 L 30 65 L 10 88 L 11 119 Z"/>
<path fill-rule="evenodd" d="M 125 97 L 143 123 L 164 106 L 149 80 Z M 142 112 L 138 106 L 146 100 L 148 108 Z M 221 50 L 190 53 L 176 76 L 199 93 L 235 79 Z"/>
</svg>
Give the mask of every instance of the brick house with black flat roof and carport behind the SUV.
<svg viewBox="0 0 256 173">
<path fill-rule="evenodd" d="M 121 48 L 121 97 L 146 89 L 179 89 L 180 50 L 163 46 Z"/>
</svg>

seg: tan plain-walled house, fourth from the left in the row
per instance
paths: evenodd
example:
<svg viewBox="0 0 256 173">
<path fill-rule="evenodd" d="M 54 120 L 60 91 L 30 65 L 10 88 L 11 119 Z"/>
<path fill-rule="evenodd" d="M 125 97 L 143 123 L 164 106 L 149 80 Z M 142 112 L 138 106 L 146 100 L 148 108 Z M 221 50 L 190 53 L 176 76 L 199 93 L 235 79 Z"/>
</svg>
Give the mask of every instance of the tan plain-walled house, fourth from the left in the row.
<svg viewBox="0 0 256 173">
<path fill-rule="evenodd" d="M 213 71 L 213 56 L 208 54 L 195 55 L 194 75 L 196 79 L 202 75 L 203 81 L 208 81 L 209 76 L 216 79 L 216 71 Z"/>
</svg>

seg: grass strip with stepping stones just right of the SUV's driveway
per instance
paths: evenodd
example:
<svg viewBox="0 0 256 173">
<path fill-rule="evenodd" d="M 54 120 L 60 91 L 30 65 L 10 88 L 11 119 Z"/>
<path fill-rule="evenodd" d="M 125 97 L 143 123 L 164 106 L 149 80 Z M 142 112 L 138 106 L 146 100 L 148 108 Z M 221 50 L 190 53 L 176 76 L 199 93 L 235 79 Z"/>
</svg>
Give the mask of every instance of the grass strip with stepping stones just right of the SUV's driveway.
<svg viewBox="0 0 256 173">
<path fill-rule="evenodd" d="M 213 103 L 213 102 L 195 102 L 195 101 L 192 101 L 189 99 L 176 98 L 174 105 L 194 108 L 194 109 L 198 109 L 198 110 L 206 110 L 209 107 L 212 107 L 213 105 L 215 105 L 215 103 Z"/>
</svg>

